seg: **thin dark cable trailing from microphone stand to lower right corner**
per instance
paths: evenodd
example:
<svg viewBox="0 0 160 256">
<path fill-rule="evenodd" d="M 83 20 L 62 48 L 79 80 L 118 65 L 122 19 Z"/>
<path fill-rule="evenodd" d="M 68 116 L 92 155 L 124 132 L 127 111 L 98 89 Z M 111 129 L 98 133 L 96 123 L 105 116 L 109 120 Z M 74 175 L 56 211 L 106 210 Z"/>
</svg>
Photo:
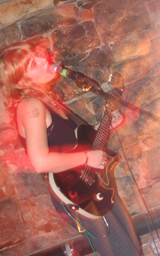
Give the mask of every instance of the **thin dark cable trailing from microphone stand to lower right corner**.
<svg viewBox="0 0 160 256">
<path fill-rule="evenodd" d="M 101 90 L 102 90 L 102 88 L 101 88 Z M 106 117 L 106 119 L 107 119 L 107 116 L 106 116 L 106 113 L 105 113 L 105 110 L 104 110 L 104 106 L 103 106 L 103 104 L 102 104 L 101 97 L 100 97 L 100 95 L 98 94 L 98 90 L 97 90 L 97 89 L 96 89 L 96 91 L 97 91 L 97 95 L 98 95 L 98 97 L 99 97 L 99 100 L 100 100 L 100 102 L 101 102 L 104 115 L 105 115 L 105 117 Z M 102 90 L 102 91 L 103 91 L 103 90 Z M 106 99 L 105 99 L 105 101 L 107 102 Z M 108 121 L 107 121 L 107 124 L 108 124 L 108 127 L 109 127 L 109 129 L 110 129 L 110 123 L 109 123 Z M 145 203 L 145 200 L 144 200 L 142 194 L 140 193 L 138 184 L 137 184 L 137 182 L 136 182 L 136 180 L 135 180 L 135 178 L 134 178 L 134 175 L 133 175 L 133 173 L 132 173 L 132 171 L 131 171 L 131 169 L 130 169 L 130 167 L 129 167 L 129 164 L 128 164 L 128 162 L 127 162 L 127 158 L 126 158 L 126 155 L 125 155 L 125 153 L 124 153 L 124 150 L 123 150 L 123 147 L 122 147 L 122 144 L 121 144 L 121 140 L 120 140 L 120 138 L 119 138 L 119 136 L 118 136 L 117 129 L 115 129 L 115 130 L 116 130 L 117 138 L 118 138 L 118 141 L 119 141 L 119 143 L 120 143 L 120 146 L 121 146 L 121 149 L 122 149 L 122 152 L 123 152 L 125 161 L 126 161 L 126 163 L 127 163 L 127 166 L 128 166 L 128 168 L 129 168 L 130 173 L 131 173 L 131 175 L 132 175 L 132 177 L 133 177 L 133 180 L 134 180 L 134 182 L 135 182 L 135 184 L 136 184 L 136 187 L 137 187 L 137 189 L 138 189 L 138 192 L 139 192 L 139 194 L 140 194 L 140 197 L 141 197 L 141 199 L 142 199 L 142 201 L 143 201 L 143 203 L 144 203 L 144 205 L 145 205 L 145 208 L 146 208 L 146 210 L 147 210 L 147 213 L 148 213 L 149 216 L 150 216 L 150 219 L 151 219 L 152 225 L 153 225 L 154 228 L 155 228 L 157 237 L 158 237 L 158 239 L 160 240 L 160 237 L 159 237 L 159 235 L 158 235 L 157 229 L 156 229 L 156 227 L 155 227 L 155 225 L 154 225 L 154 222 L 153 222 L 153 220 L 152 220 L 151 214 L 150 214 L 150 212 L 149 212 L 149 210 L 148 210 L 148 207 L 147 207 L 147 205 L 146 205 L 146 203 Z M 134 196 L 135 196 L 135 199 L 136 199 L 136 201 L 137 201 L 137 203 L 138 203 L 138 205 L 139 205 L 139 208 L 140 208 L 140 210 L 141 210 L 141 212 L 142 212 L 142 214 L 143 214 L 143 216 L 144 216 L 144 218 L 145 218 L 145 221 L 146 221 L 146 223 L 147 223 L 147 226 L 148 226 L 149 232 L 150 232 L 150 234 L 151 234 L 153 243 L 154 243 L 155 248 L 156 248 L 156 250 L 157 250 L 157 255 L 160 256 L 160 254 L 159 254 L 159 252 L 158 252 L 158 248 L 157 248 L 157 246 L 156 246 L 156 242 L 155 242 L 154 237 L 153 237 L 153 234 L 152 234 L 152 231 L 151 231 L 150 226 L 149 226 L 149 222 L 148 222 L 148 220 L 147 220 L 147 218 L 146 218 L 146 216 L 145 216 L 145 213 L 144 213 L 144 211 L 143 211 L 143 209 L 142 209 L 142 207 L 141 207 L 141 205 L 140 205 L 140 203 L 139 203 L 139 200 L 138 200 L 138 198 L 137 198 L 137 196 L 136 196 L 136 194 L 135 194 L 135 192 L 134 192 L 133 186 L 132 186 L 132 184 L 131 184 L 131 182 L 130 182 L 130 180 L 129 180 L 129 177 L 128 177 L 128 175 L 127 175 L 127 172 L 126 172 L 126 170 L 125 170 L 125 168 L 124 168 L 124 166 L 123 166 L 123 163 L 122 163 L 122 161 L 121 161 L 121 157 L 120 157 L 118 148 L 117 148 L 117 146 L 116 146 L 116 142 L 115 142 L 115 139 L 114 139 L 114 136 L 113 136 L 113 134 L 112 134 L 111 129 L 110 129 L 110 134 L 111 134 L 111 136 L 112 136 L 112 138 L 113 138 L 113 141 L 114 141 L 114 144 L 115 144 L 115 147 L 116 147 L 116 152 L 117 152 L 117 154 L 118 154 L 118 157 L 119 157 L 121 166 L 122 166 L 122 168 L 123 168 L 123 170 L 124 170 L 124 173 L 125 173 L 125 175 L 126 175 L 126 177 L 127 177 L 127 180 L 128 180 L 128 182 L 129 182 L 129 184 L 130 184 L 130 186 L 131 186 L 131 189 L 132 189 L 132 191 L 133 191 L 133 194 L 134 194 Z"/>
</svg>

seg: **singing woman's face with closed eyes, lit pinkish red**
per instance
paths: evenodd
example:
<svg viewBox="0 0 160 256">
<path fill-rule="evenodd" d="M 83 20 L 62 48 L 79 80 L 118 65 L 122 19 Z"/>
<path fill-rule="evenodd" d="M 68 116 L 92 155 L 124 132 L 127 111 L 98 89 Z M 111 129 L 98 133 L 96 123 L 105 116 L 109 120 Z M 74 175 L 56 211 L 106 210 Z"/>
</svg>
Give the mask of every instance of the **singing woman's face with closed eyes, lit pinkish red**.
<svg viewBox="0 0 160 256">
<path fill-rule="evenodd" d="M 33 83 L 43 84 L 51 81 L 56 74 L 50 73 L 50 64 L 43 56 L 36 56 L 31 53 L 31 59 L 27 67 L 27 76 Z"/>
</svg>

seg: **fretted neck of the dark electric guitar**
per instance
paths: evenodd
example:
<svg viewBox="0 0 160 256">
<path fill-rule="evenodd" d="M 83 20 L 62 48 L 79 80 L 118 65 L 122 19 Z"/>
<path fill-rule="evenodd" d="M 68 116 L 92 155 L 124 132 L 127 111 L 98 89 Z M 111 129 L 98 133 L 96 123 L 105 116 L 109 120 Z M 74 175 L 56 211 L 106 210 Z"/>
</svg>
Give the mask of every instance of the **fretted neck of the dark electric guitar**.
<svg viewBox="0 0 160 256">
<path fill-rule="evenodd" d="M 122 95 L 122 91 L 123 89 L 120 89 L 115 87 L 112 93 L 112 97 L 120 100 L 121 95 Z M 111 121 L 112 121 L 112 112 L 118 108 L 118 104 L 116 102 L 109 102 L 109 105 L 105 111 L 105 115 L 102 118 L 102 121 L 99 125 L 97 134 L 95 136 L 95 139 L 92 143 L 92 150 L 94 149 L 104 149 L 104 146 L 106 144 L 106 140 L 110 137 L 110 125 L 111 125 Z"/>
</svg>

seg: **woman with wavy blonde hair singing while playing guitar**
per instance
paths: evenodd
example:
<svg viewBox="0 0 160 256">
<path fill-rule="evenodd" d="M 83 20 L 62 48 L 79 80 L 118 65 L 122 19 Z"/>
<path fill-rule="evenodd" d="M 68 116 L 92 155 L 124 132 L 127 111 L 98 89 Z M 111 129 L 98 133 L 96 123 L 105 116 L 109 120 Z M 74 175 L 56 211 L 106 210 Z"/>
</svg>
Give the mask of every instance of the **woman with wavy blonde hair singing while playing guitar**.
<svg viewBox="0 0 160 256">
<path fill-rule="evenodd" d="M 50 81 L 56 75 L 50 73 L 52 56 L 40 46 L 30 43 L 15 43 L 0 52 L 0 84 L 4 93 L 4 104 L 11 121 L 14 122 L 22 145 L 37 173 L 59 173 L 87 164 L 104 169 L 106 153 L 102 150 L 63 153 L 63 145 L 71 149 L 76 145 L 76 124 L 68 118 L 55 102 Z M 52 109 L 44 102 L 52 103 Z M 122 121 L 118 110 L 113 113 L 112 127 Z M 60 202 L 54 194 L 52 201 L 57 211 L 64 216 Z M 75 213 L 72 212 L 74 216 Z M 65 215 L 66 216 L 66 215 Z M 94 248 L 104 255 L 139 255 L 139 245 L 126 209 L 116 196 L 112 210 L 106 214 L 110 232 L 106 234 L 102 218 L 89 220 L 80 216 L 82 225 L 91 230 L 98 240 L 89 235 Z M 77 226 L 69 215 L 68 222 Z"/>
</svg>

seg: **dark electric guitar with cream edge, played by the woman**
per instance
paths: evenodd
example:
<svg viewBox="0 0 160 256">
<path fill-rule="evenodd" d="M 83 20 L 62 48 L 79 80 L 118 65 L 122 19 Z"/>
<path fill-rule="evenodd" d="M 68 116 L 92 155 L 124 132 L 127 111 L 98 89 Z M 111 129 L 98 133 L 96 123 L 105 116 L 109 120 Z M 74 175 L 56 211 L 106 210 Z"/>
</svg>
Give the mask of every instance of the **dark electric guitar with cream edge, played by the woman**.
<svg viewBox="0 0 160 256">
<path fill-rule="evenodd" d="M 124 87 L 123 78 L 114 72 L 111 82 L 114 87 L 112 97 L 119 100 Z M 76 128 L 78 144 L 74 150 L 69 151 L 82 151 L 82 144 L 85 150 L 106 151 L 107 166 L 104 170 L 86 165 L 61 173 L 49 173 L 50 187 L 61 202 L 92 219 L 104 216 L 114 204 L 114 168 L 119 158 L 115 152 L 106 148 L 106 141 L 110 137 L 111 112 L 116 108 L 118 104 L 110 101 L 97 131 L 87 125 Z"/>
</svg>

